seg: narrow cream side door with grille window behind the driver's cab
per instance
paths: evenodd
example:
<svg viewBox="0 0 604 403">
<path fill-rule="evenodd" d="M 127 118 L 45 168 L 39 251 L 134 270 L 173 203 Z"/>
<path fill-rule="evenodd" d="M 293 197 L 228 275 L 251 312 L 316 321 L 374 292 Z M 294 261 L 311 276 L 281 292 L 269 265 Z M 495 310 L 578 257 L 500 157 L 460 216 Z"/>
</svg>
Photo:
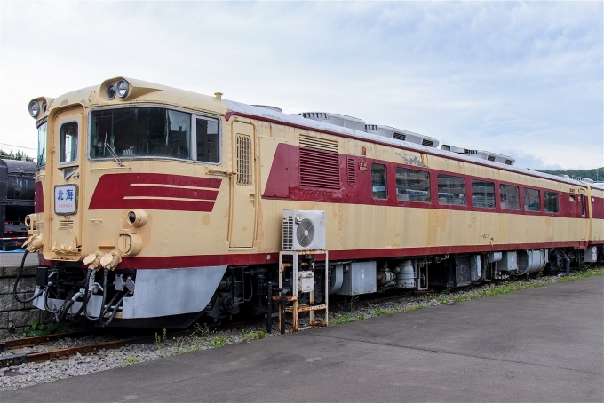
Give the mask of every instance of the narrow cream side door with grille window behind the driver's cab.
<svg viewBox="0 0 604 403">
<path fill-rule="evenodd" d="M 231 188 L 231 248 L 251 248 L 256 233 L 254 186 L 254 126 L 233 122 L 233 171 Z"/>
</svg>

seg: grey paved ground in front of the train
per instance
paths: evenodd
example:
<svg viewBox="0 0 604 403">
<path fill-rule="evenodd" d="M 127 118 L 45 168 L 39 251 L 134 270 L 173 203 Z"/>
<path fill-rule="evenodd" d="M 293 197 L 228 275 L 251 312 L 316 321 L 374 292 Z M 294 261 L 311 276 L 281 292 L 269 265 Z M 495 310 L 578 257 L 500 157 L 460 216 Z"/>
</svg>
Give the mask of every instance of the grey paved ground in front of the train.
<svg viewBox="0 0 604 403">
<path fill-rule="evenodd" d="M 601 402 L 603 289 L 603 276 L 569 281 L 140 363 L 0 399 Z"/>
</svg>

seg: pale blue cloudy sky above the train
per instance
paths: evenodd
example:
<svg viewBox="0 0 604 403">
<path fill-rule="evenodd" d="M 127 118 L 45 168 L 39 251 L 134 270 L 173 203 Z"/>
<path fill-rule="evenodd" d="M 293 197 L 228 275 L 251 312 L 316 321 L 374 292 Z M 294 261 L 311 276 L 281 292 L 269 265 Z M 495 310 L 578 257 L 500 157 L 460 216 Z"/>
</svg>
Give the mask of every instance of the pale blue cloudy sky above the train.
<svg viewBox="0 0 604 403">
<path fill-rule="evenodd" d="M 125 76 L 604 166 L 602 2 L 0 2 L 0 148 L 31 99 Z M 15 147 L 18 146 L 18 147 Z"/>
</svg>

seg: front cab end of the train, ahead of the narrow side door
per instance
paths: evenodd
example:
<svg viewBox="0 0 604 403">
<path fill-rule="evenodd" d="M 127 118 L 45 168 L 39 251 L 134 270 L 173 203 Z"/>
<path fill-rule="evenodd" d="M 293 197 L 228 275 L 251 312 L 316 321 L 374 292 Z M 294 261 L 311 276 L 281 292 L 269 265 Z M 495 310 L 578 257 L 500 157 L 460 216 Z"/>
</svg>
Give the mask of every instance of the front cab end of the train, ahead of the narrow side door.
<svg viewBox="0 0 604 403">
<path fill-rule="evenodd" d="M 225 110 L 122 77 L 53 100 L 36 196 L 44 210 L 30 217 L 27 242 L 44 256 L 38 308 L 98 326 L 178 328 L 200 316 L 227 269 L 207 258 L 227 240 Z"/>
</svg>

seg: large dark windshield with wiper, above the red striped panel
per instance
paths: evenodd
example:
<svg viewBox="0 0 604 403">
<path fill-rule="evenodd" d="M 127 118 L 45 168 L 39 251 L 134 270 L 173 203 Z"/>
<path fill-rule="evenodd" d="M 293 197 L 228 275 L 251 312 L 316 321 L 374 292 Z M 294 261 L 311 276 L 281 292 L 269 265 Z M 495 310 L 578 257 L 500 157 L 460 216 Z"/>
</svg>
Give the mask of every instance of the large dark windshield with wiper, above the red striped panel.
<svg viewBox="0 0 604 403">
<path fill-rule="evenodd" d="M 190 159 L 191 115 L 162 107 L 121 107 L 91 112 L 91 158 Z"/>
</svg>

